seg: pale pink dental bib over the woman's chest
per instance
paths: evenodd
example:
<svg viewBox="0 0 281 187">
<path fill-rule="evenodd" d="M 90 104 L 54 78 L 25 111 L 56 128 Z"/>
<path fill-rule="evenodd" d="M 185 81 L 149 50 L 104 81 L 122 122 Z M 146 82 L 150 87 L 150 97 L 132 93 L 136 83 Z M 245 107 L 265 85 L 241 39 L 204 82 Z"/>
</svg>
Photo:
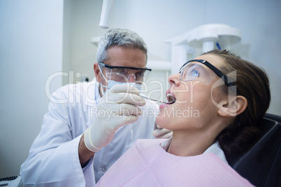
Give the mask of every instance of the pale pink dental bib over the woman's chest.
<svg viewBox="0 0 281 187">
<path fill-rule="evenodd" d="M 215 154 L 174 156 L 164 141 L 138 140 L 96 186 L 252 186 Z"/>
</svg>

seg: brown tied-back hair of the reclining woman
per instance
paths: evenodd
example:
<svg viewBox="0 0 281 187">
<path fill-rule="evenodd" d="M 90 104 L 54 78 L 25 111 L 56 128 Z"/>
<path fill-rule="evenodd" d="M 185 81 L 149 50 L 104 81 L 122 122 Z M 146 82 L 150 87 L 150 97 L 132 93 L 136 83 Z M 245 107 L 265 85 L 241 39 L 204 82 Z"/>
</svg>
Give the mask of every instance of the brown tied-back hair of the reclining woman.
<svg viewBox="0 0 281 187">
<path fill-rule="evenodd" d="M 247 99 L 247 108 L 236 117 L 236 123 L 217 136 L 219 145 L 229 160 L 245 154 L 259 140 L 258 124 L 271 102 L 269 80 L 265 70 L 227 50 L 212 50 L 204 54 L 214 54 L 224 60 L 224 65 L 219 70 L 228 75 L 229 80 L 235 80 L 233 83 L 237 95 Z M 227 90 L 226 86 L 224 88 Z"/>
</svg>

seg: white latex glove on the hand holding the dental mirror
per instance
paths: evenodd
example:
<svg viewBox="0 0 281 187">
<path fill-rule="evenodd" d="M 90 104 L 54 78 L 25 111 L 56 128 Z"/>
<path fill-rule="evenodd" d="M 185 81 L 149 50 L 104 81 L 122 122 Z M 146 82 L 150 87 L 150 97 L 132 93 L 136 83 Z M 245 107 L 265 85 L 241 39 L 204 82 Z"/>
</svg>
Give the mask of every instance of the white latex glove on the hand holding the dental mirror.
<svg viewBox="0 0 281 187">
<path fill-rule="evenodd" d="M 129 84 L 117 84 L 106 92 L 97 105 L 94 123 L 85 131 L 87 149 L 99 151 L 113 140 L 118 128 L 138 120 L 142 110 L 137 106 L 145 105 L 138 93 Z"/>
</svg>

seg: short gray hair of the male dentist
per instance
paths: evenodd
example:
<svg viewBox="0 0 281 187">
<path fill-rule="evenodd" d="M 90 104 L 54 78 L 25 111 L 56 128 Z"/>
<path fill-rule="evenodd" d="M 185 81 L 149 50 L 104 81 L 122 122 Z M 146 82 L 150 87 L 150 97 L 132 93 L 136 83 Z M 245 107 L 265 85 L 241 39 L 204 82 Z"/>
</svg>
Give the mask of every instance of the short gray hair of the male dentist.
<svg viewBox="0 0 281 187">
<path fill-rule="evenodd" d="M 113 46 L 129 47 L 143 50 L 147 60 L 147 47 L 146 44 L 134 31 L 128 29 L 109 29 L 101 40 L 99 40 L 98 49 L 96 51 L 97 62 L 103 62 L 107 58 L 107 50 Z"/>
</svg>

